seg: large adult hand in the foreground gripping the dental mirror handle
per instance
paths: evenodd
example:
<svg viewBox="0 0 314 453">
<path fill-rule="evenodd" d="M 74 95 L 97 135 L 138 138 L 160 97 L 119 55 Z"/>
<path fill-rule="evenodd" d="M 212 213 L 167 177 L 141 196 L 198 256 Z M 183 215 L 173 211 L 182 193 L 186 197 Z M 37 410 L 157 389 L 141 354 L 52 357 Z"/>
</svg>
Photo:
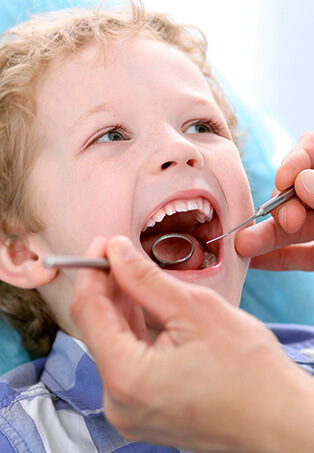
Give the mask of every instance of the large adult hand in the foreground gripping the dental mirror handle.
<svg viewBox="0 0 314 453">
<path fill-rule="evenodd" d="M 72 317 L 103 380 L 106 417 L 125 437 L 198 452 L 312 451 L 312 379 L 262 323 L 172 278 L 126 238 L 96 240 L 89 256 L 105 254 L 119 292 L 160 326 L 150 342 L 108 295 L 106 273 L 78 272 Z"/>
</svg>

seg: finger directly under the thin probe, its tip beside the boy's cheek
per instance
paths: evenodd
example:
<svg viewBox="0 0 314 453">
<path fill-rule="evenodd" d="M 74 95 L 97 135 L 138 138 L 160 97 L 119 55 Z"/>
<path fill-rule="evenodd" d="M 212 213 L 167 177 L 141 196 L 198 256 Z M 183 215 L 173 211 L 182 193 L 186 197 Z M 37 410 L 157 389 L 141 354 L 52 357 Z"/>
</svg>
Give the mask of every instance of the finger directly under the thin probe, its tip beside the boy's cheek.
<svg viewBox="0 0 314 453">
<path fill-rule="evenodd" d="M 241 230 L 235 239 L 237 252 L 241 256 L 253 257 L 264 255 L 272 250 L 294 243 L 313 240 L 314 212 L 307 214 L 301 230 L 294 234 L 286 233 L 273 218 Z"/>
</svg>

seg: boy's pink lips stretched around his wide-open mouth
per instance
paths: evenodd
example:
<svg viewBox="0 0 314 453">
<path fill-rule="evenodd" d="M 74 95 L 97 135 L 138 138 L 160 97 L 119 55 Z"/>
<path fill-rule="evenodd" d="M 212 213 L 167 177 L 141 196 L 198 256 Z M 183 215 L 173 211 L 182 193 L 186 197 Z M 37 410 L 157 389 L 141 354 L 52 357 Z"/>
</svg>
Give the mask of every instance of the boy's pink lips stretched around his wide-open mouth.
<svg viewBox="0 0 314 453">
<path fill-rule="evenodd" d="M 218 202 L 218 197 L 220 200 L 220 203 Z M 139 235 L 143 233 L 143 229 L 145 229 L 145 226 L 147 224 L 147 221 L 161 208 L 163 208 L 165 205 L 171 202 L 175 202 L 177 200 L 190 200 L 190 199 L 197 199 L 197 198 L 203 198 L 207 200 L 211 206 L 213 207 L 214 210 L 214 215 L 218 218 L 218 222 L 220 224 L 220 228 L 223 229 L 223 206 L 225 204 L 224 198 L 222 193 L 219 194 L 218 196 L 215 196 L 212 192 L 205 190 L 205 189 L 199 189 L 199 188 L 194 188 L 194 189 L 189 189 L 189 190 L 181 190 L 181 191 L 176 191 L 169 195 L 168 197 L 164 198 L 162 202 L 160 202 L 146 217 L 145 220 L 142 222 L 142 227 L 140 229 Z M 149 229 L 149 228 L 148 228 Z M 147 231 L 147 230 L 146 230 Z M 183 233 L 184 234 L 184 233 Z M 216 236 L 216 235 L 215 235 Z M 211 237 L 208 238 L 208 240 L 211 239 Z M 140 240 L 141 243 L 141 240 Z M 203 242 L 204 243 L 204 242 Z M 218 247 L 219 253 L 218 253 L 218 261 L 215 265 L 212 265 L 210 267 L 204 268 L 204 269 L 190 269 L 190 270 L 167 270 L 167 272 L 171 272 L 173 274 L 178 274 L 180 275 L 180 278 L 186 277 L 187 279 L 190 278 L 203 278 L 206 275 L 205 274 L 210 274 L 211 276 L 214 273 L 217 273 L 221 270 L 222 268 L 222 263 L 223 263 L 223 242 L 219 244 Z"/>
</svg>

